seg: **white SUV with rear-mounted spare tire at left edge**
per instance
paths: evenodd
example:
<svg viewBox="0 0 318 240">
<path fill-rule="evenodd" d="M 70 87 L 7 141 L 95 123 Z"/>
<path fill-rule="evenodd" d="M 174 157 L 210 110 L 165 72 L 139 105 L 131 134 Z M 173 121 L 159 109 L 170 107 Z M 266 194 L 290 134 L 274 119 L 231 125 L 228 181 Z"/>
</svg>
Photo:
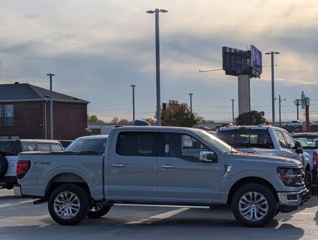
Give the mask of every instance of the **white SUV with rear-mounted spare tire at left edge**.
<svg viewBox="0 0 318 240">
<path fill-rule="evenodd" d="M 12 189 L 16 179 L 17 154 L 22 151 L 62 151 L 55 140 L 0 140 L 0 188 Z"/>
</svg>

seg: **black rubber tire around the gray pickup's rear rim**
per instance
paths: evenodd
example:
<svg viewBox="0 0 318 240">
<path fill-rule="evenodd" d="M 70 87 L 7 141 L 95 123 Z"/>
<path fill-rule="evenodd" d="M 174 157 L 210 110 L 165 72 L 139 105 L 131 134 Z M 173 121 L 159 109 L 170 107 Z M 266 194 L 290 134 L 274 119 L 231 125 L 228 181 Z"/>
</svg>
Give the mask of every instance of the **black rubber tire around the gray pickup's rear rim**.
<svg viewBox="0 0 318 240">
<path fill-rule="evenodd" d="M 77 197 L 76 202 L 79 203 L 78 208 L 76 207 L 77 213 L 70 217 L 70 218 L 62 218 L 61 216 L 59 216 L 56 212 L 55 212 L 55 208 L 54 208 L 54 201 L 55 198 L 63 193 L 63 192 L 70 192 L 75 194 L 75 196 Z M 68 193 L 69 199 L 72 198 L 70 197 L 70 193 Z M 65 194 L 64 194 L 65 195 Z M 68 198 L 68 196 L 66 196 L 65 198 Z M 74 199 L 74 198 L 73 198 Z M 60 201 L 61 202 L 61 201 Z M 62 205 L 62 204 L 61 204 Z M 84 217 L 87 215 L 88 209 L 89 209 L 89 200 L 88 200 L 88 195 L 85 192 L 85 190 L 75 184 L 63 184 L 60 185 L 58 187 L 56 187 L 50 194 L 49 198 L 48 198 L 48 211 L 51 215 L 51 217 L 53 218 L 54 221 L 56 221 L 57 223 L 61 224 L 61 225 L 76 225 L 77 223 L 79 223 L 81 220 L 84 219 Z M 60 210 L 63 207 L 60 206 L 56 206 L 56 210 Z M 65 208 L 65 207 L 64 207 Z M 71 208 L 71 207 L 70 207 Z M 69 209 L 68 211 L 73 211 L 72 209 Z M 76 210 L 75 210 L 76 211 Z M 65 215 L 65 210 L 62 211 L 61 213 L 64 212 L 64 216 Z M 67 213 L 66 213 L 67 214 Z"/>
</svg>

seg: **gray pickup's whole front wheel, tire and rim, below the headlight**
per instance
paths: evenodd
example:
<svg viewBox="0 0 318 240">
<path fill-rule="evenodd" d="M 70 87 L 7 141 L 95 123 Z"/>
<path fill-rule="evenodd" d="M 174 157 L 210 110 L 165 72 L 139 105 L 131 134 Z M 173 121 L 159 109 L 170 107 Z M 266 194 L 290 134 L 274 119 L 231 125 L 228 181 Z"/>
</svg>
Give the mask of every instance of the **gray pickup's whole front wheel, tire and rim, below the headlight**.
<svg viewBox="0 0 318 240">
<path fill-rule="evenodd" d="M 273 192 L 260 184 L 240 187 L 232 199 L 232 211 L 243 226 L 261 227 L 269 223 L 277 212 Z"/>
</svg>

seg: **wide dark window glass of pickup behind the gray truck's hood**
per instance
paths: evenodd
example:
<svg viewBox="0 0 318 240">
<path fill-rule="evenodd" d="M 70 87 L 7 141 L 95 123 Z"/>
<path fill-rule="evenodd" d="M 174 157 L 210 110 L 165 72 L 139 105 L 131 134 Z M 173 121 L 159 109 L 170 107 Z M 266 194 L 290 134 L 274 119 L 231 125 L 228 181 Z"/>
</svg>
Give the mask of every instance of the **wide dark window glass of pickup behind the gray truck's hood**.
<svg viewBox="0 0 318 240">
<path fill-rule="evenodd" d="M 272 137 L 268 129 L 229 129 L 219 130 L 217 137 L 233 147 L 274 148 Z"/>
</svg>

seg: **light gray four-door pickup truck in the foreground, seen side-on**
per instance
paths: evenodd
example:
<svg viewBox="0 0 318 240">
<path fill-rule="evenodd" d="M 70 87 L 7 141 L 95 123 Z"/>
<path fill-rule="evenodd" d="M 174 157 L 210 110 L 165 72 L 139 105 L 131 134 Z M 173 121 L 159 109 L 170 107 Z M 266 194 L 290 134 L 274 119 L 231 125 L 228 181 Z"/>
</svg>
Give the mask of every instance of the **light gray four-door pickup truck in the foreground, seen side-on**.
<svg viewBox="0 0 318 240">
<path fill-rule="evenodd" d="M 14 193 L 48 201 L 63 225 L 100 217 L 113 205 L 229 204 L 240 224 L 260 227 L 307 200 L 301 162 L 241 153 L 201 129 L 113 128 L 104 149 L 90 137 L 96 142 L 78 138 L 62 153 L 20 153 Z"/>
</svg>

